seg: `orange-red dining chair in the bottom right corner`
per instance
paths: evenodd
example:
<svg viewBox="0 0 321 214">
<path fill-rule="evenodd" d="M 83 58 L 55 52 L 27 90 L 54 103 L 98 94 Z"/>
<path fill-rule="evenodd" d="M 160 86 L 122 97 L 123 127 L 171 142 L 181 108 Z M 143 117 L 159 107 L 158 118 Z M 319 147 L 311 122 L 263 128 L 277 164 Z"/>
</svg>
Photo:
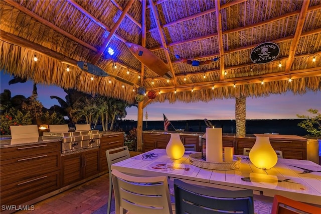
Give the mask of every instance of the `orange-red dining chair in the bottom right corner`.
<svg viewBox="0 0 321 214">
<path fill-rule="evenodd" d="M 297 213 L 320 214 L 321 207 L 292 200 L 290 198 L 287 198 L 281 195 L 274 195 L 271 214 L 297 214 Z"/>
</svg>

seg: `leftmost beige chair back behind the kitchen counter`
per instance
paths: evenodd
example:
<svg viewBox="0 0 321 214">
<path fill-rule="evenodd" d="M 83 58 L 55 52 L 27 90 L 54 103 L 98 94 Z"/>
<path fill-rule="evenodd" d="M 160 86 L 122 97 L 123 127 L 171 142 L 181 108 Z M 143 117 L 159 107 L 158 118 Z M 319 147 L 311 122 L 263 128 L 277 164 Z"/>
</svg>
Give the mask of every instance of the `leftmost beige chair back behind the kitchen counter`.
<svg viewBox="0 0 321 214">
<path fill-rule="evenodd" d="M 38 138 L 37 125 L 10 126 L 11 139 Z"/>
</svg>

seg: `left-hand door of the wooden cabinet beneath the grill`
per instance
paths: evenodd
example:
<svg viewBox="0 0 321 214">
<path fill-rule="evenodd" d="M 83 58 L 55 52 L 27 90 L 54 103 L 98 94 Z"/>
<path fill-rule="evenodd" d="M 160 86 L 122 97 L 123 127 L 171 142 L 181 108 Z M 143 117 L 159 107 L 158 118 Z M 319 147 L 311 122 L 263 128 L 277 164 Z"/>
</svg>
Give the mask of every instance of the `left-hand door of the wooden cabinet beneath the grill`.
<svg viewBox="0 0 321 214">
<path fill-rule="evenodd" d="M 83 178 L 82 152 L 61 157 L 62 186 L 73 184 Z"/>
</svg>

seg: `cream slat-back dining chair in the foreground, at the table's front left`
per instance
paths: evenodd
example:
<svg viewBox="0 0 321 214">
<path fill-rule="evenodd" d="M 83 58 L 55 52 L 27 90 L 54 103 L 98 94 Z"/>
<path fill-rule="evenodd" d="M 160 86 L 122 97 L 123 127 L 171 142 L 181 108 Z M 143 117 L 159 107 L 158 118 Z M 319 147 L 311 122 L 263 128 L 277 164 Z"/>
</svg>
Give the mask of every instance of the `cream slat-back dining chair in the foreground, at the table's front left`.
<svg viewBox="0 0 321 214">
<path fill-rule="evenodd" d="M 172 204 L 166 176 L 135 177 L 114 169 L 111 172 L 116 214 L 172 214 Z"/>
</svg>

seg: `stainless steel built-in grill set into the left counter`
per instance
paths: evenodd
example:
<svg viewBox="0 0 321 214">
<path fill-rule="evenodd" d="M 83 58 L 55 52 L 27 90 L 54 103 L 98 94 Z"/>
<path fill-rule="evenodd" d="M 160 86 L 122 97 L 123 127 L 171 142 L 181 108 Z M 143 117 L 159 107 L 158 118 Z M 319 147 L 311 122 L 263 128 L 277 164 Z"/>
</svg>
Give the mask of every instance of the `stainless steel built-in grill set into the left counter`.
<svg viewBox="0 0 321 214">
<path fill-rule="evenodd" d="M 43 139 L 61 139 L 61 153 L 99 147 L 101 134 L 98 130 L 78 132 L 45 132 Z"/>
</svg>

